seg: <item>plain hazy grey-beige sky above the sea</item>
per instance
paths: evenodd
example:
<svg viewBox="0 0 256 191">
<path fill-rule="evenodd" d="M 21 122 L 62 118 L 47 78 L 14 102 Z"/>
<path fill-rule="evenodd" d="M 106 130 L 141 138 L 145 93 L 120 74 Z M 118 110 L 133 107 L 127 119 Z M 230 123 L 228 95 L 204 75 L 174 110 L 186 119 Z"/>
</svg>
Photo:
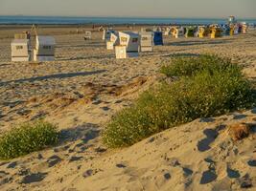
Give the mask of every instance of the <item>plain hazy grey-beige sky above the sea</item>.
<svg viewBox="0 0 256 191">
<path fill-rule="evenodd" d="M 0 0 L 0 15 L 256 18 L 256 0 Z"/>
</svg>

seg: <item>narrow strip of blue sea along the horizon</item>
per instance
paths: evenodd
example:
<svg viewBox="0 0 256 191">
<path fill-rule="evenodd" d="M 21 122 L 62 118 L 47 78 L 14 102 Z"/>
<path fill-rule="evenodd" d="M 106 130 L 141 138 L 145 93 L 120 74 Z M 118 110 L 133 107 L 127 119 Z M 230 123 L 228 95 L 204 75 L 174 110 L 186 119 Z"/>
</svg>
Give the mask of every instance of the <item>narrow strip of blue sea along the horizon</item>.
<svg viewBox="0 0 256 191">
<path fill-rule="evenodd" d="M 256 24 L 256 19 L 237 19 Z M 139 18 L 139 17 L 63 17 L 63 16 L 0 16 L 0 25 L 119 25 L 119 24 L 225 24 L 227 18 Z"/>
</svg>

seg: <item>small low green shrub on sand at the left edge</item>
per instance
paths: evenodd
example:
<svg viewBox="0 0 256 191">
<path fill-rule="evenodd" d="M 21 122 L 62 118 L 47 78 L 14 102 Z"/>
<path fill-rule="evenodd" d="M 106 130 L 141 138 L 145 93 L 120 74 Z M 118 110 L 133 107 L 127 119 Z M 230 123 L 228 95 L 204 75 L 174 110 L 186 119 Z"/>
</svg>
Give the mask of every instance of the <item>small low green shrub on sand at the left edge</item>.
<svg viewBox="0 0 256 191">
<path fill-rule="evenodd" d="M 58 142 L 57 127 L 42 120 L 13 127 L 0 138 L 0 159 L 14 159 Z"/>
</svg>

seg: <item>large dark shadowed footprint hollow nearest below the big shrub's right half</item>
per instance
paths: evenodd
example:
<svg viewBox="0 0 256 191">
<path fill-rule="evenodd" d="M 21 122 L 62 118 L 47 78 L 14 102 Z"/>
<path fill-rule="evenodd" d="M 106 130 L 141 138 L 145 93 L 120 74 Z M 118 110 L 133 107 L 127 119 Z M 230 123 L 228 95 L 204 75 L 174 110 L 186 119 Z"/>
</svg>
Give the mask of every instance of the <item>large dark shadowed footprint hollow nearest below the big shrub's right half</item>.
<svg viewBox="0 0 256 191">
<path fill-rule="evenodd" d="M 206 138 L 203 138 L 198 141 L 198 151 L 204 152 L 209 150 L 210 144 L 219 136 L 219 133 L 213 129 L 206 129 L 203 131 L 203 134 Z"/>
</svg>

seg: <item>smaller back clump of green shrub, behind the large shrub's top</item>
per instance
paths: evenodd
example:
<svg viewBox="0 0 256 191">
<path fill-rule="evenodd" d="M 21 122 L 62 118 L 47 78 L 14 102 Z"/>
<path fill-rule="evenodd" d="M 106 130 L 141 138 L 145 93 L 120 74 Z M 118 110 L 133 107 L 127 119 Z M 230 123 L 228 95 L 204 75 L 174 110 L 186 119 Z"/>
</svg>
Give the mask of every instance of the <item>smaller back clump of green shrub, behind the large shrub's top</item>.
<svg viewBox="0 0 256 191">
<path fill-rule="evenodd" d="M 221 58 L 216 55 L 199 55 L 194 57 L 179 57 L 172 61 L 172 64 L 163 66 L 160 70 L 162 74 L 169 77 L 172 76 L 191 76 L 198 74 L 202 70 L 208 70 L 210 73 L 214 71 L 225 71 L 241 68 L 233 64 L 229 58 Z"/>
</svg>

